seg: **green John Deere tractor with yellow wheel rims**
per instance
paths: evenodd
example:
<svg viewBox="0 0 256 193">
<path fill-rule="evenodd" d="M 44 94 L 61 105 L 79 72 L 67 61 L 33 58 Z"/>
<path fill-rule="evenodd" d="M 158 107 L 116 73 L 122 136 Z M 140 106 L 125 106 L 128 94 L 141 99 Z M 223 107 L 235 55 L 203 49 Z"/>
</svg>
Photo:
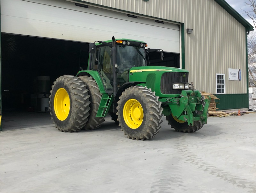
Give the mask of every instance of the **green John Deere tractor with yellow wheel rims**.
<svg viewBox="0 0 256 193">
<path fill-rule="evenodd" d="M 145 49 L 145 42 L 114 37 L 97 42 L 89 45 L 87 70 L 53 83 L 50 114 L 60 131 L 98 128 L 107 114 L 137 140 L 154 137 L 163 116 L 178 132 L 206 124 L 210 97 L 204 100 L 188 83 L 187 70 L 147 66 L 147 52 L 158 50 Z"/>
</svg>

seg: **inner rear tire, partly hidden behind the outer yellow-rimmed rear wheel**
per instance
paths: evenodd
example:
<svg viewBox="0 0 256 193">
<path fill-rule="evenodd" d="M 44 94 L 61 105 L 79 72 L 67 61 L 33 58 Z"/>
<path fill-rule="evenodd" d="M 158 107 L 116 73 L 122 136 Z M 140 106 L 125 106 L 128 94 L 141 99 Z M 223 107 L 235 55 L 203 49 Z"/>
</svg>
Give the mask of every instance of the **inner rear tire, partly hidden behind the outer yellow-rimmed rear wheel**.
<svg viewBox="0 0 256 193">
<path fill-rule="evenodd" d="M 96 117 L 97 111 L 100 106 L 101 93 L 97 82 L 89 76 L 79 76 L 79 78 L 84 81 L 86 88 L 89 90 L 89 100 L 91 101 L 89 111 L 89 117 L 86 125 L 84 126 L 85 130 L 93 130 L 99 128 L 100 125 L 105 121 L 104 117 Z"/>
</svg>

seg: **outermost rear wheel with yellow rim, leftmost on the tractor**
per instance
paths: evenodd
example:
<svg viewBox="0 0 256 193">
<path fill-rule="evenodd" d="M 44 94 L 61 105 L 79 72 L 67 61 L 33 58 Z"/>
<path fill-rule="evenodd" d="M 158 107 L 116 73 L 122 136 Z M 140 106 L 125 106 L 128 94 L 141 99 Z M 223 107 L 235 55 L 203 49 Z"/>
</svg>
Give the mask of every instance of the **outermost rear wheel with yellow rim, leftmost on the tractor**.
<svg viewBox="0 0 256 193">
<path fill-rule="evenodd" d="M 62 132 L 81 130 L 89 116 L 89 95 L 84 82 L 72 75 L 60 76 L 52 85 L 50 114 Z"/>
</svg>

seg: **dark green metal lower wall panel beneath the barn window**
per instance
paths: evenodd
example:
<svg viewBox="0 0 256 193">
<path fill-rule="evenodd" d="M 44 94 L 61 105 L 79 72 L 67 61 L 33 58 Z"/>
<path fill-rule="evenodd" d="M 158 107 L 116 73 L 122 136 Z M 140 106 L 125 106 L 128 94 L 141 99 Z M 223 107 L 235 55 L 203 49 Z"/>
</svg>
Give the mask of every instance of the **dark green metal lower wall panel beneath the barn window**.
<svg viewBox="0 0 256 193">
<path fill-rule="evenodd" d="M 215 95 L 220 100 L 215 100 L 217 104 L 217 110 L 228 109 L 242 109 L 249 108 L 249 95 L 248 94 L 225 94 Z"/>
</svg>

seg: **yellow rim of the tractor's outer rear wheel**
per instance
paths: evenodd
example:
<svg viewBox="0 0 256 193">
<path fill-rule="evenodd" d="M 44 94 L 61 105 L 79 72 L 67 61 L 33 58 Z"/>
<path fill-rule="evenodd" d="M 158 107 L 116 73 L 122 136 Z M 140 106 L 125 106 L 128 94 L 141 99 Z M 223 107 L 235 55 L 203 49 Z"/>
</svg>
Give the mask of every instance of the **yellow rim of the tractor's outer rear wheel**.
<svg viewBox="0 0 256 193">
<path fill-rule="evenodd" d="M 57 90 L 54 97 L 54 111 L 57 118 L 64 121 L 69 114 L 70 99 L 66 89 L 60 88 Z"/>
</svg>

